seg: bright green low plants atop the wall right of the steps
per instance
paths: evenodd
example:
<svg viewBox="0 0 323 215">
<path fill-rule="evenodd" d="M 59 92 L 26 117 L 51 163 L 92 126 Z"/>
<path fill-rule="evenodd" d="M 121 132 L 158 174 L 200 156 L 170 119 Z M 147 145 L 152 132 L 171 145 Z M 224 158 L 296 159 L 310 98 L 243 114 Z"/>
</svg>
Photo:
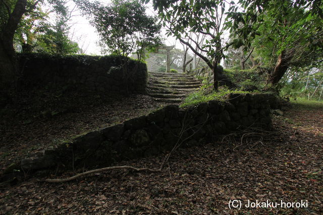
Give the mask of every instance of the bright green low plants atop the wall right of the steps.
<svg viewBox="0 0 323 215">
<path fill-rule="evenodd" d="M 212 84 L 204 85 L 198 91 L 189 94 L 180 107 L 187 107 L 191 105 L 197 105 L 202 102 L 210 100 L 225 101 L 229 93 L 250 93 L 248 91 L 241 90 L 230 90 L 226 87 L 220 87 L 219 91 L 216 92 L 212 89 Z"/>
</svg>

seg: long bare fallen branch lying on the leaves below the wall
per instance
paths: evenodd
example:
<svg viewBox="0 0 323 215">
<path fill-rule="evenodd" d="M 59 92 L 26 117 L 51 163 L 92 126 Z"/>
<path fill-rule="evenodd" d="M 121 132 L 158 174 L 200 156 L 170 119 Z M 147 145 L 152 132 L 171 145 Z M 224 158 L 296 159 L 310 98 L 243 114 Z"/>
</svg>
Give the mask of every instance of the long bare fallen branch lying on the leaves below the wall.
<svg viewBox="0 0 323 215">
<path fill-rule="evenodd" d="M 84 173 L 80 173 L 77 174 L 75 176 L 69 177 L 69 178 L 63 178 L 63 179 L 46 179 L 46 182 L 49 183 L 62 183 L 62 182 L 67 182 L 67 181 L 72 181 L 74 179 L 77 179 L 79 177 L 82 177 L 84 175 L 89 175 L 91 173 L 96 173 L 96 172 L 104 172 L 106 170 L 116 170 L 116 169 L 131 169 L 131 170 L 135 170 L 135 171 L 148 171 L 148 172 L 160 172 L 161 169 L 149 169 L 149 168 L 135 168 L 132 166 L 114 166 L 114 167 L 105 167 L 105 168 L 101 168 L 101 169 L 95 169 L 95 170 L 90 170 Z"/>
</svg>

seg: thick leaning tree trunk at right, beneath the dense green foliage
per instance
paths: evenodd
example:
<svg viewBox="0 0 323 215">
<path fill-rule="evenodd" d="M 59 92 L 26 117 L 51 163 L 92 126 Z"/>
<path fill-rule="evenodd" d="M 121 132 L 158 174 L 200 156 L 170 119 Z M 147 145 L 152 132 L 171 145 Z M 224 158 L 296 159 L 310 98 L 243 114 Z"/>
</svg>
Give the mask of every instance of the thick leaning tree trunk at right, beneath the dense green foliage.
<svg viewBox="0 0 323 215">
<path fill-rule="evenodd" d="M 267 83 L 276 85 L 283 78 L 284 74 L 286 73 L 289 67 L 290 59 L 290 57 L 286 56 L 286 51 L 282 51 L 282 53 L 278 57 L 275 68 L 270 74 Z"/>
</svg>

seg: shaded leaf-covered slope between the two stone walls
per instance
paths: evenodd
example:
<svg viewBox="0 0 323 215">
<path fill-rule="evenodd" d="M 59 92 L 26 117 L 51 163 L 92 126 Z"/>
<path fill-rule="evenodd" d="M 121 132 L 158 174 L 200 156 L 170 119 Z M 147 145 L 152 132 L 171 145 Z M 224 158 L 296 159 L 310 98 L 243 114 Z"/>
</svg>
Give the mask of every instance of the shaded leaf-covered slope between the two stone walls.
<svg viewBox="0 0 323 215">
<path fill-rule="evenodd" d="M 0 109 L 0 174 L 14 161 L 165 106 L 146 95 L 28 92 Z"/>
</svg>

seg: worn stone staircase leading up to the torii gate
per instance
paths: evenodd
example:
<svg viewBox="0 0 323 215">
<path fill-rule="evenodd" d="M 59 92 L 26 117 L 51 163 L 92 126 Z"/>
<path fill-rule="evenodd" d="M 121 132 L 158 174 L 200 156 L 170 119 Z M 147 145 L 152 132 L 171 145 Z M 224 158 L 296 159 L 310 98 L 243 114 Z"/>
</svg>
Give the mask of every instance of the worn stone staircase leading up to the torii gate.
<svg viewBox="0 0 323 215">
<path fill-rule="evenodd" d="M 191 76 L 180 73 L 148 73 L 148 95 L 156 101 L 180 103 L 202 86 Z"/>
</svg>

